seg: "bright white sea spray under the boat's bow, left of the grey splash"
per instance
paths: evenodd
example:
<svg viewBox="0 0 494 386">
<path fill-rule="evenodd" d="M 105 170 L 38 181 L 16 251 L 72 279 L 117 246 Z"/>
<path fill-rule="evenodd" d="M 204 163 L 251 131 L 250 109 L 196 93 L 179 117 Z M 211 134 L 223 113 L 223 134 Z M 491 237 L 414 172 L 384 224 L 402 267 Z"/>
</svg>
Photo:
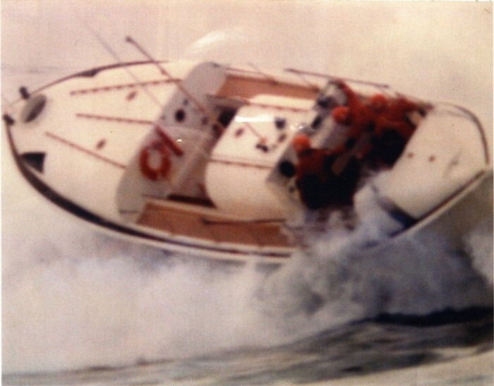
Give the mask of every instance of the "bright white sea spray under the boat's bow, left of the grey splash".
<svg viewBox="0 0 494 386">
<path fill-rule="evenodd" d="M 251 306 L 265 271 L 119 241 L 36 200 L 7 210 L 4 373 L 128 366 L 285 342 Z"/>
</svg>

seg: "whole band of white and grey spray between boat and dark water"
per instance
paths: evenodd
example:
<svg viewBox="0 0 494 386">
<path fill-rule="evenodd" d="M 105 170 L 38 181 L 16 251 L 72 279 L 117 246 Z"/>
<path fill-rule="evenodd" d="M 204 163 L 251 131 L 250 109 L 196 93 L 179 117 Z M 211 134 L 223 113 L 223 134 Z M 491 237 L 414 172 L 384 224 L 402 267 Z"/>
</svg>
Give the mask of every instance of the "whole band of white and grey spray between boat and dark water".
<svg viewBox="0 0 494 386">
<path fill-rule="evenodd" d="M 363 248 L 399 227 L 374 205 L 370 186 L 356 197 L 356 229 L 333 215 L 277 269 L 103 236 L 22 183 L 4 186 L 4 373 L 276 346 L 382 313 L 492 304 L 492 223 L 466 235 L 469 254 L 430 232 Z"/>
</svg>

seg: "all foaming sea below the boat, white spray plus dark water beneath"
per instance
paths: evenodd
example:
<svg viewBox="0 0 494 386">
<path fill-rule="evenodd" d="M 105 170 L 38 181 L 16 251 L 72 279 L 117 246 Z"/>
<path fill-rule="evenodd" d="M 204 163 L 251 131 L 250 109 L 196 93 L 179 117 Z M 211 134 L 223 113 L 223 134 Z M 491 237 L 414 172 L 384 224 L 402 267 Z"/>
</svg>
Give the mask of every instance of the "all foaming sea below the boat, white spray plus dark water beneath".
<svg viewBox="0 0 494 386">
<path fill-rule="evenodd" d="M 430 232 L 364 250 L 394 224 L 363 219 L 306 235 L 274 268 L 136 246 L 33 198 L 7 205 L 4 382 L 306 383 L 492 354 L 492 222 L 465 251 Z M 466 374 L 454 379 L 487 384 L 490 362 Z"/>
</svg>

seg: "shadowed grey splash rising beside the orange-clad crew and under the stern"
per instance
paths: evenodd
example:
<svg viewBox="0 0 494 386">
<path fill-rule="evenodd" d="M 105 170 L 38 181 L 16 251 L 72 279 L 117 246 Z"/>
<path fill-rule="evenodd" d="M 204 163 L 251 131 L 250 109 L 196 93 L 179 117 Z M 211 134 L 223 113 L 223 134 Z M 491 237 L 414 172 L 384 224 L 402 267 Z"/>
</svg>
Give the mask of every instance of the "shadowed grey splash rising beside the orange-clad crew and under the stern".
<svg viewBox="0 0 494 386">
<path fill-rule="evenodd" d="M 382 183 L 386 176 L 376 178 Z M 323 233 L 307 231 L 308 247 L 258 290 L 258 298 L 273 318 L 279 318 L 279 325 L 313 334 L 383 313 L 427 315 L 447 308 L 492 306 L 491 288 L 471 255 L 452 248 L 442 234 L 426 229 L 392 237 L 401 224 L 376 205 L 372 186 L 371 181 L 356 195 L 355 229 L 342 226 L 342 214 L 335 213 L 337 220 L 330 217 Z M 488 239 L 487 233 L 481 234 Z M 486 245 L 486 240 L 478 240 L 478 231 L 474 234 L 476 246 Z"/>
</svg>

